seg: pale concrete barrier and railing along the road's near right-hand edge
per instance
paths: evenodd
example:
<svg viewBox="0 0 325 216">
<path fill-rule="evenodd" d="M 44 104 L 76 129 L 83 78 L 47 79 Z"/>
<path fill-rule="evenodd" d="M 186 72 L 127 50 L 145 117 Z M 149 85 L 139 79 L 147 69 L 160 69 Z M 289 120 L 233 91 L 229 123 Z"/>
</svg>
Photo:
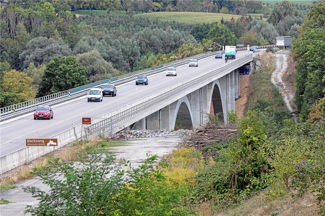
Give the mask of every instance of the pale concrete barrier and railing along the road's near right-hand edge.
<svg viewBox="0 0 325 216">
<path fill-rule="evenodd" d="M 94 119 L 94 124 L 87 127 L 85 131 L 88 133 L 88 136 L 91 137 L 91 134 L 99 134 L 98 128 L 105 127 L 108 128 L 109 130 L 111 128 L 111 124 L 113 125 L 114 128 L 116 128 L 119 125 L 123 125 L 123 123 L 128 123 L 127 121 L 134 120 L 134 118 L 138 117 L 139 114 L 147 112 L 150 109 L 154 109 L 156 106 L 161 105 L 167 100 L 173 99 L 174 97 L 177 97 L 179 94 L 182 94 L 185 91 L 192 89 L 193 87 L 200 85 L 211 78 L 214 78 L 218 74 L 227 71 L 231 67 L 236 67 L 240 65 L 242 62 L 248 61 L 251 58 L 252 58 L 251 54 L 240 56 L 235 60 L 235 62 L 232 61 L 228 62 L 226 63 L 225 66 L 212 69 L 210 71 L 206 71 L 201 74 L 198 74 L 195 77 L 189 78 L 185 83 L 184 81 L 179 82 L 173 86 L 169 86 L 159 92 L 144 97 L 136 102 L 125 105 L 122 108 L 113 110 L 99 117 L 99 118 L 105 118 L 105 120 L 100 121 L 98 119 Z M 70 142 L 73 142 L 77 138 L 80 138 L 81 131 L 82 131 L 82 125 L 77 125 L 51 138 L 57 138 L 59 142 L 59 147 L 61 147 Z M 113 132 L 117 132 L 117 131 L 114 130 Z M 8 153 L 0 158 L 1 161 L 0 173 L 5 173 L 9 170 L 12 170 L 15 167 L 18 167 L 41 155 L 50 153 L 51 151 L 53 151 L 52 147 L 37 147 L 37 148 L 25 147 L 19 149 L 18 151 Z"/>
</svg>

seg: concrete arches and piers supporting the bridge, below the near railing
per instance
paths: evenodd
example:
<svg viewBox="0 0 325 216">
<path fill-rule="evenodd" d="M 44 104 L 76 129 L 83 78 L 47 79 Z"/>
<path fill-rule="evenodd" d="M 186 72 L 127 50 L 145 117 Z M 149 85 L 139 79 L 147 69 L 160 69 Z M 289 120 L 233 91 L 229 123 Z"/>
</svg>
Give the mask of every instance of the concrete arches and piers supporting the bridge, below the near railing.
<svg viewBox="0 0 325 216">
<path fill-rule="evenodd" d="M 251 66 L 251 62 L 242 64 L 246 63 Z M 143 118 L 135 122 L 133 129 L 174 129 L 177 114 L 184 129 L 196 128 L 203 124 L 207 113 L 223 113 L 219 119 L 227 120 L 227 111 L 235 109 L 235 100 L 240 97 L 239 68 L 235 67 L 239 67 L 239 65 L 230 67 L 227 71 L 178 94 L 174 98 L 177 98 L 175 101 L 168 100 L 152 109 L 155 110 L 153 113 L 150 113 L 152 111 L 144 112 L 137 117 L 137 119 Z"/>
</svg>

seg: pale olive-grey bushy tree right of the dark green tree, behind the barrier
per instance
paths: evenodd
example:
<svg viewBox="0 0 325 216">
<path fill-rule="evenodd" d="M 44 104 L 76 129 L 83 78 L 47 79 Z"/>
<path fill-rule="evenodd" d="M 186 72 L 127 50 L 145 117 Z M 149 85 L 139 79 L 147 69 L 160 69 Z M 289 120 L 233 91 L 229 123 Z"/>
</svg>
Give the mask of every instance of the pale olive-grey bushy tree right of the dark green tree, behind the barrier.
<svg viewBox="0 0 325 216">
<path fill-rule="evenodd" d="M 112 63 L 106 62 L 98 50 L 78 54 L 76 60 L 80 66 L 84 66 L 87 69 L 89 83 L 109 79 L 118 74 L 117 70 L 113 68 Z M 100 78 L 100 80 L 96 78 Z"/>
</svg>

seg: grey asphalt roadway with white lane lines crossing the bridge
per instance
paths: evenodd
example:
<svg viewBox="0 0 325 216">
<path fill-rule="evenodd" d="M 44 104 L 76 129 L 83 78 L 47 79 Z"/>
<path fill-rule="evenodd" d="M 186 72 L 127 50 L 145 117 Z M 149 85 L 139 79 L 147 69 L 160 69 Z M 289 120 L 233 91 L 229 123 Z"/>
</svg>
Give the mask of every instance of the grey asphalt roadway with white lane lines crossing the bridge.
<svg viewBox="0 0 325 216">
<path fill-rule="evenodd" d="M 236 56 L 247 53 L 248 51 L 238 51 Z M 225 60 L 215 59 L 213 55 L 200 59 L 198 62 L 198 67 L 188 67 L 188 64 L 177 66 L 177 76 L 166 76 L 165 72 L 150 75 L 148 76 L 149 85 L 135 85 L 135 81 L 118 85 L 116 97 L 105 96 L 102 102 L 88 103 L 87 96 L 83 96 L 52 106 L 54 118 L 50 120 L 34 120 L 33 113 L 29 113 L 4 121 L 0 124 L 0 156 L 23 148 L 25 138 L 50 138 L 71 128 L 72 122 L 74 126 L 81 124 L 82 117 L 99 117 L 170 85 L 220 66 L 225 63 Z"/>
</svg>

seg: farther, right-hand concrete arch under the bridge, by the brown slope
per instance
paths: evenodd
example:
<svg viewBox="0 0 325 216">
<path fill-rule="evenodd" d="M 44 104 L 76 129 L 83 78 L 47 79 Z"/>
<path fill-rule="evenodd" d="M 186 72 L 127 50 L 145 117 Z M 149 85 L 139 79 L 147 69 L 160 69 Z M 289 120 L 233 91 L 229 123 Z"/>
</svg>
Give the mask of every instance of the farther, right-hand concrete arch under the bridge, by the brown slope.
<svg viewBox="0 0 325 216">
<path fill-rule="evenodd" d="M 226 105 L 226 101 L 224 101 L 223 97 L 221 96 L 221 87 L 219 80 L 213 81 L 210 98 L 210 113 L 213 112 L 214 115 L 216 113 L 223 113 L 223 115 L 219 114 L 218 117 L 221 121 L 225 121 L 225 119 L 227 118 L 227 113 L 225 113 L 224 111 L 226 110 L 226 108 L 224 107 Z"/>
</svg>

